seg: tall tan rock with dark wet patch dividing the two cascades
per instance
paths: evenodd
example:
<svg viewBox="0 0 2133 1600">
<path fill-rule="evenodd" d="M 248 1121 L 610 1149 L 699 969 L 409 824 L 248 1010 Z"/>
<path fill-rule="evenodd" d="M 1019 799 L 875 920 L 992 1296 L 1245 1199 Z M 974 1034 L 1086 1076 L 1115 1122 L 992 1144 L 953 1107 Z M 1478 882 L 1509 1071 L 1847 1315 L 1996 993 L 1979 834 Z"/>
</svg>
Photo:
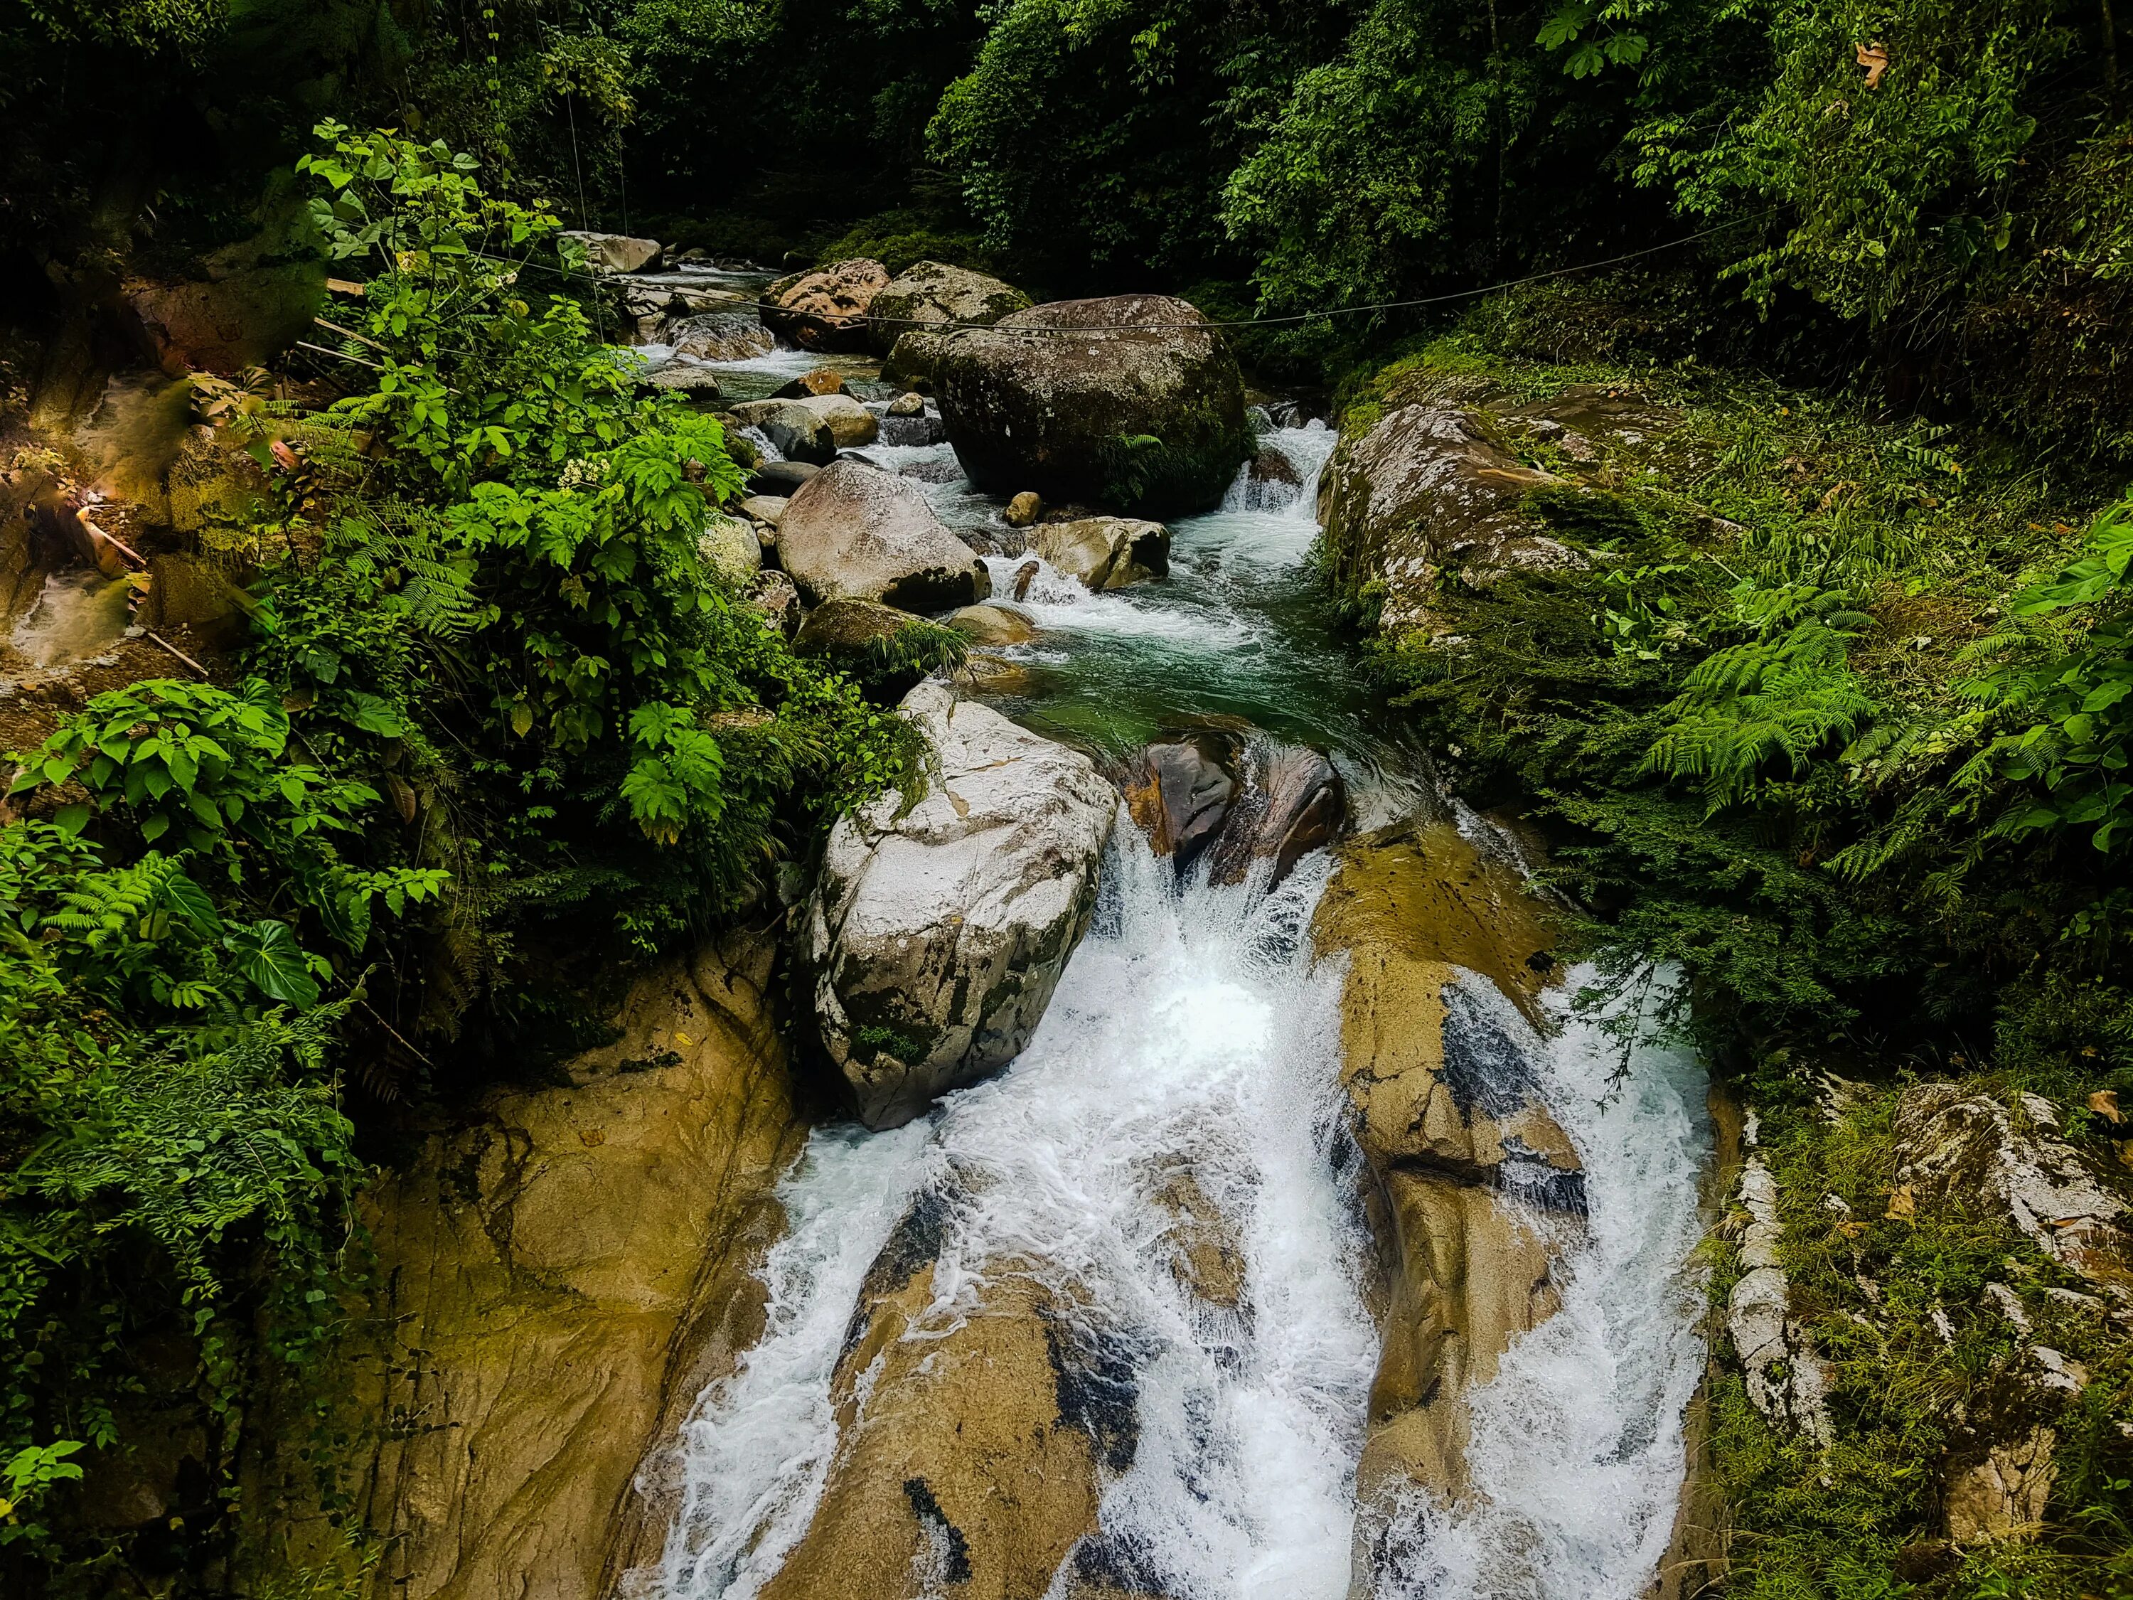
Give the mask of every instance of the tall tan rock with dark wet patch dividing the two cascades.
<svg viewBox="0 0 2133 1600">
<path fill-rule="evenodd" d="M 1546 949 L 1514 873 L 1450 826 L 1380 830 L 1344 847 L 1312 932 L 1320 956 L 1348 958 L 1342 1086 L 1389 1269 L 1357 1485 L 1354 1591 L 1372 1594 L 1393 1506 L 1416 1487 L 1468 1491 L 1468 1395 L 1555 1314 L 1549 1235 L 1583 1216 L 1585 1175 L 1502 1013 L 1538 1022 Z"/>
</svg>

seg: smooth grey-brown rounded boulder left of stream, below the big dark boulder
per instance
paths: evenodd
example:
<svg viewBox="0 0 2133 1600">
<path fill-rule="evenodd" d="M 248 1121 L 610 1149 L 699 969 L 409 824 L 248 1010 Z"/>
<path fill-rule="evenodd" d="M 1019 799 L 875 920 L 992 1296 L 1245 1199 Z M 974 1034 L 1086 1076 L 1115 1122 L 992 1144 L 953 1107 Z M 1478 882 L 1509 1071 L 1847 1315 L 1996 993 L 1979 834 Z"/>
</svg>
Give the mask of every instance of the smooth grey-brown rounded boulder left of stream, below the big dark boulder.
<svg viewBox="0 0 2133 1600">
<path fill-rule="evenodd" d="M 779 557 L 815 604 L 879 599 L 932 612 L 992 593 L 985 563 L 947 529 L 924 489 L 849 457 L 787 501 Z"/>
</svg>

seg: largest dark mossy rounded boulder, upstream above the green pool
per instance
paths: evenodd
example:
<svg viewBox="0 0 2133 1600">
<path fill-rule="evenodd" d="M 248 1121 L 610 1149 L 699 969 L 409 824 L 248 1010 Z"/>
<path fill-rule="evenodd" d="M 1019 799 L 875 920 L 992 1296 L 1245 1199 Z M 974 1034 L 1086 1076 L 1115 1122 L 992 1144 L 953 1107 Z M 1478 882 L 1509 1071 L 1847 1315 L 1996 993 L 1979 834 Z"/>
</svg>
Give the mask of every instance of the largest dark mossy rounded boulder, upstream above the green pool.
<svg viewBox="0 0 2133 1600">
<path fill-rule="evenodd" d="M 1218 506 L 1252 454 L 1244 382 L 1184 301 L 1118 294 L 945 335 L 941 414 L 979 489 L 1135 516 Z"/>
</svg>

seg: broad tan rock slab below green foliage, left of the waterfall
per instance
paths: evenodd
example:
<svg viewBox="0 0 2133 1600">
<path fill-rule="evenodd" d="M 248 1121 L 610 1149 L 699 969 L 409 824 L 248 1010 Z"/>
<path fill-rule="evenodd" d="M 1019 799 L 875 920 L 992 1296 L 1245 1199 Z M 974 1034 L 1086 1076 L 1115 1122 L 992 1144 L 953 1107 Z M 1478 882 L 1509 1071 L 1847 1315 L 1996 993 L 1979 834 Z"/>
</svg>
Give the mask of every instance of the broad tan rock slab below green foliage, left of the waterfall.
<svg viewBox="0 0 2133 1600">
<path fill-rule="evenodd" d="M 390 1540 L 367 1594 L 565 1600 L 657 1562 L 674 1440 L 761 1338 L 755 1269 L 806 1139 L 774 954 L 736 934 L 661 962 L 614 1043 L 482 1097 L 365 1195 L 371 1299 L 316 1389 L 356 1502 L 318 1506 L 309 1417 L 262 1429 L 247 1481 L 292 1506 L 277 1562 L 337 1562 L 343 1515 Z"/>
</svg>

